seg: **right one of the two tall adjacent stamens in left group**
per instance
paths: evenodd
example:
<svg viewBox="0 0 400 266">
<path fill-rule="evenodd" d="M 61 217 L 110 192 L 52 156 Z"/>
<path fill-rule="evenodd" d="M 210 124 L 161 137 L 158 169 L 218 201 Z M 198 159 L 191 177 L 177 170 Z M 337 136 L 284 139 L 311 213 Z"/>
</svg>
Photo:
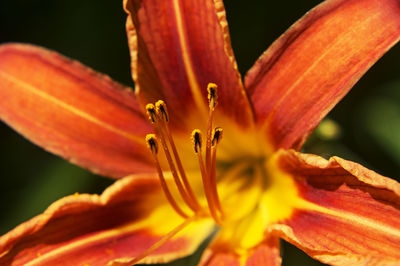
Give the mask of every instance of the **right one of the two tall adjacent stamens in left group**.
<svg viewBox="0 0 400 266">
<path fill-rule="evenodd" d="M 167 105 L 164 103 L 164 101 L 162 101 L 162 100 L 157 101 L 157 103 L 156 103 L 156 112 L 157 112 L 158 117 L 161 118 L 162 130 L 167 135 L 169 144 L 171 145 L 172 153 L 174 154 L 174 158 L 175 158 L 175 162 L 176 162 L 176 164 L 178 166 L 179 174 L 181 175 L 181 178 L 182 178 L 183 184 L 185 186 L 185 189 L 186 189 L 187 193 L 189 194 L 189 197 L 190 197 L 191 202 L 193 204 L 193 207 L 194 207 L 193 210 L 197 211 L 197 210 L 200 209 L 200 204 L 197 201 L 196 195 L 194 194 L 194 192 L 192 190 L 192 187 L 190 186 L 190 183 L 189 183 L 189 181 L 188 181 L 188 179 L 186 177 L 186 173 L 185 173 L 185 170 L 183 169 L 182 161 L 179 158 L 179 154 L 178 154 L 178 151 L 176 149 L 174 139 L 172 138 L 171 131 L 169 130 L 169 127 L 168 127 L 168 110 L 167 110 Z"/>
</svg>

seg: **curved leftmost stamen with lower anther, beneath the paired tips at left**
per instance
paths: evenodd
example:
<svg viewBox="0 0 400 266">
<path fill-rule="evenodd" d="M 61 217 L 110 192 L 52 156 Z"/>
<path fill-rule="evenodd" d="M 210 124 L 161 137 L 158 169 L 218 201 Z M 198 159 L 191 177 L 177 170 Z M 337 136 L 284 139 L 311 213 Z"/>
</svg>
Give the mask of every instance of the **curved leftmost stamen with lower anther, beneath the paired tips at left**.
<svg viewBox="0 0 400 266">
<path fill-rule="evenodd" d="M 157 138 L 154 134 L 147 134 L 146 135 L 146 143 L 151 153 L 154 157 L 154 162 L 157 168 L 158 177 L 160 179 L 161 187 L 164 191 L 165 196 L 167 197 L 168 202 L 171 204 L 172 208 L 183 218 L 188 218 L 189 216 L 179 207 L 179 205 L 174 200 L 171 192 L 168 189 L 167 182 L 165 182 L 164 175 L 161 170 L 160 162 L 158 161 L 157 153 L 158 153 L 158 143 Z"/>
</svg>

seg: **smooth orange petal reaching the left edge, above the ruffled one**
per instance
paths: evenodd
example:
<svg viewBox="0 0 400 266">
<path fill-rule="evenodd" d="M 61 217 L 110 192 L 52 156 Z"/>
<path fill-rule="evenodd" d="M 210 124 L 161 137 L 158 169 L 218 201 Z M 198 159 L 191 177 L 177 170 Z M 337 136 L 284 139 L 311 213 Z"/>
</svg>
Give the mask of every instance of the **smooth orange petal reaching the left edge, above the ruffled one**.
<svg viewBox="0 0 400 266">
<path fill-rule="evenodd" d="M 31 45 L 2 45 L 0 58 L 0 118 L 23 136 L 102 175 L 153 171 L 152 129 L 127 88 Z"/>
</svg>

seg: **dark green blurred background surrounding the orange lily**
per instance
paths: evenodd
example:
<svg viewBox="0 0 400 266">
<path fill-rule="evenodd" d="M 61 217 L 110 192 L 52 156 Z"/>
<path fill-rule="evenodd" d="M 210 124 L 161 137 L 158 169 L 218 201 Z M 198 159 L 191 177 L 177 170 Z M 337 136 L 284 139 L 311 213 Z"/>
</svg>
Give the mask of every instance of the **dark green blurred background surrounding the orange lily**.
<svg viewBox="0 0 400 266">
<path fill-rule="evenodd" d="M 122 1 L 8 0 L 0 3 L 0 43 L 56 50 L 133 86 Z M 225 1 L 242 74 L 293 22 L 320 1 Z M 400 170 L 400 46 L 387 53 L 329 114 L 341 135 L 314 134 L 306 151 L 336 154 L 397 178 Z M 1 60 L 1 59 L 0 59 Z M 4 99 L 0 99 L 1 101 Z M 0 123 L 0 234 L 74 192 L 100 193 L 111 181 L 50 155 Z M 284 265 L 318 265 L 283 245 Z M 180 260 L 195 262 L 199 256 Z M 174 264 L 177 265 L 177 264 Z"/>
</svg>

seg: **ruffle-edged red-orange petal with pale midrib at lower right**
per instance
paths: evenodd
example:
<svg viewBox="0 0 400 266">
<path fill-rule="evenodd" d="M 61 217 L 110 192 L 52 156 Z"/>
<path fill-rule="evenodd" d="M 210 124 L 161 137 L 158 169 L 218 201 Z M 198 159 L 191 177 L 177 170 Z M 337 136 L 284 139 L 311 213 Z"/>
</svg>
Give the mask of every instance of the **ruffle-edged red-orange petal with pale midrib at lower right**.
<svg viewBox="0 0 400 266">
<path fill-rule="evenodd" d="M 328 264 L 400 262 L 399 183 L 337 157 L 279 156 L 300 198 L 292 217 L 271 231 Z"/>
</svg>

